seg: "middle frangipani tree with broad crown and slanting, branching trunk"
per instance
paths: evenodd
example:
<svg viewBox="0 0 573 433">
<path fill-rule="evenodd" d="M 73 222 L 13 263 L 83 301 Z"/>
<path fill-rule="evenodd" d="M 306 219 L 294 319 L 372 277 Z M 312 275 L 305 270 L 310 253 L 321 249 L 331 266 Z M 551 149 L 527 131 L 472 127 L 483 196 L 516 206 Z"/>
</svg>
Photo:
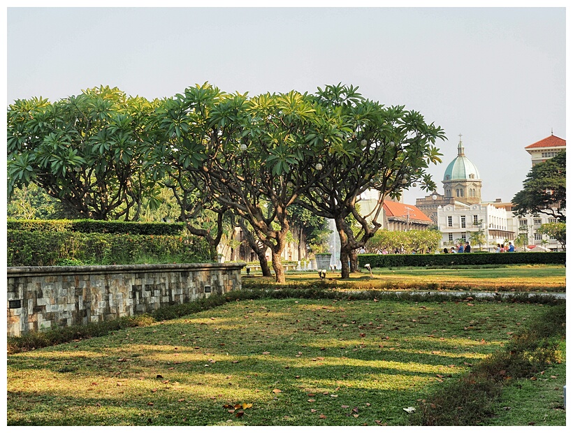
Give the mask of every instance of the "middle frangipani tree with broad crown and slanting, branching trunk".
<svg viewBox="0 0 573 433">
<path fill-rule="evenodd" d="M 205 83 L 163 101 L 154 123 L 158 144 L 150 148 L 150 169 L 157 179 L 169 179 L 181 191 L 194 186 L 187 201 L 195 198 L 248 221 L 271 250 L 279 282 L 287 209 L 310 187 L 312 159 L 322 149 L 309 138 L 317 117 L 313 104 L 296 91 L 249 98 Z"/>
</svg>

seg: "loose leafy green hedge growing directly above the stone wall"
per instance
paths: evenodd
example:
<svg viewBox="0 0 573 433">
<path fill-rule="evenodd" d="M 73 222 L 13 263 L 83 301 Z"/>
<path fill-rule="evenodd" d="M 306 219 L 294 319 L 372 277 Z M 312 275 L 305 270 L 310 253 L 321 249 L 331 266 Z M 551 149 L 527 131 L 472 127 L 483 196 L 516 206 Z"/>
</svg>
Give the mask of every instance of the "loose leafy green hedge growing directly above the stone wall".
<svg viewBox="0 0 573 433">
<path fill-rule="evenodd" d="M 114 265 L 211 262 L 201 237 L 8 230 L 8 266 Z M 168 260 L 168 261 L 166 261 Z"/>
</svg>

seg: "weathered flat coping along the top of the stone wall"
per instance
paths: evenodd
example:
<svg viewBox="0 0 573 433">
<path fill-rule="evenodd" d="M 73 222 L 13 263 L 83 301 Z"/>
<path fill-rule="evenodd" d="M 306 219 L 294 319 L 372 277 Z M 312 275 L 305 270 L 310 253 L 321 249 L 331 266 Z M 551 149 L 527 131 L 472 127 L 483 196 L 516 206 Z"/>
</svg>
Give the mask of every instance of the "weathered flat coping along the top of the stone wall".
<svg viewBox="0 0 573 433">
<path fill-rule="evenodd" d="M 247 263 L 162 263 L 155 265 L 97 265 L 97 266 L 17 266 L 8 267 L 10 277 L 66 274 L 121 274 L 124 272 L 155 272 L 185 270 L 238 270 Z"/>
</svg>

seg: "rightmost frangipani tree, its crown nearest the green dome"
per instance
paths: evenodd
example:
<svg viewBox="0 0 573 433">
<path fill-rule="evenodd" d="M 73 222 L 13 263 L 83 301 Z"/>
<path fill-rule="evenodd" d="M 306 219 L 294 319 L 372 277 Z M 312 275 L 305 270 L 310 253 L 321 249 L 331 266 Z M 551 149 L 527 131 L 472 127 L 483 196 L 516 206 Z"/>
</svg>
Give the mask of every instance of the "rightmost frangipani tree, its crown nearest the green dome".
<svg viewBox="0 0 573 433">
<path fill-rule="evenodd" d="M 427 191 L 435 189 L 425 169 L 440 162 L 435 141 L 445 138 L 442 129 L 426 124 L 419 112 L 403 106 L 385 108 L 363 98 L 357 89 L 336 85 L 317 92 L 318 134 L 322 134 L 317 138 L 324 143 L 317 164 L 324 175 L 309 181 L 311 188 L 299 200 L 315 214 L 334 219 L 342 278 L 357 270 L 356 250 L 381 226 L 377 219 L 386 196 L 399 197 L 416 182 Z M 337 140 L 328 135 L 333 127 Z M 357 202 L 368 189 L 378 191 L 379 197 L 377 205 L 363 214 Z M 347 222 L 350 215 L 360 226 L 358 233 Z"/>
</svg>

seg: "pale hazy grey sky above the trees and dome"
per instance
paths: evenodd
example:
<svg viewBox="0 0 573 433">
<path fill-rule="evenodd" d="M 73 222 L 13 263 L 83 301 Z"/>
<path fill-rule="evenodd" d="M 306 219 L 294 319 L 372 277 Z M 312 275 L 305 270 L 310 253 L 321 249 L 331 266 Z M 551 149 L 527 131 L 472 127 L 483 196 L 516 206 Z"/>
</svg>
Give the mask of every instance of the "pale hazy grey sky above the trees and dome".
<svg viewBox="0 0 573 433">
<path fill-rule="evenodd" d="M 461 133 L 482 198 L 509 201 L 523 148 L 567 139 L 565 28 L 564 7 L 8 8 L 7 105 L 99 85 L 163 98 L 205 81 L 252 95 L 342 82 L 442 126 L 440 193 Z"/>
</svg>

